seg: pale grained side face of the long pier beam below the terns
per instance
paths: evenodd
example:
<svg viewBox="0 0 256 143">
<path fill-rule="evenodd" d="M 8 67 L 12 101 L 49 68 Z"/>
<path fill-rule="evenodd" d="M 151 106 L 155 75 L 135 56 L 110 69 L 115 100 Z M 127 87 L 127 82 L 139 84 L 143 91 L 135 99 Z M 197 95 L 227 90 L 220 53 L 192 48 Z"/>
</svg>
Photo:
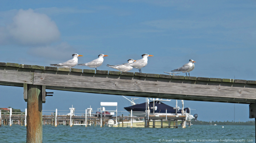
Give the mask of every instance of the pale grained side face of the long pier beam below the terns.
<svg viewBox="0 0 256 143">
<path fill-rule="evenodd" d="M 178 81 L 180 82 L 180 81 Z M 255 88 L 231 87 L 220 85 L 204 85 L 204 84 L 188 84 L 178 82 L 161 82 L 148 81 L 146 77 L 133 79 L 120 79 L 107 77 L 92 77 L 92 76 L 75 76 L 75 75 L 53 75 L 45 73 L 35 73 L 34 84 L 57 86 L 57 87 L 73 87 L 87 88 L 100 90 L 116 90 L 125 92 L 150 93 L 152 95 L 159 94 L 176 94 L 184 96 L 201 96 L 214 97 L 215 100 L 221 98 L 229 98 L 232 101 L 234 98 L 241 99 L 256 99 Z M 231 83 L 234 84 L 234 83 Z M 148 94 L 145 94 L 148 95 Z"/>
</svg>

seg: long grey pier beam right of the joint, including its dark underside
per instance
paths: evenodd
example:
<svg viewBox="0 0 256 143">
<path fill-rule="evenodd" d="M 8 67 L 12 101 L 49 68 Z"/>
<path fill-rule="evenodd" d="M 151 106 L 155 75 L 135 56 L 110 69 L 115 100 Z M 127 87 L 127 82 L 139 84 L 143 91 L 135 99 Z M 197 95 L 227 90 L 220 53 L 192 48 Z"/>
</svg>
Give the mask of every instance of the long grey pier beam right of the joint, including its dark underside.
<svg viewBox="0 0 256 143">
<path fill-rule="evenodd" d="M 45 85 L 46 88 L 58 87 L 65 90 L 100 94 L 151 97 L 180 97 L 193 100 L 214 100 L 222 102 L 256 103 L 256 86 L 242 83 L 193 81 L 180 79 L 163 79 L 140 76 L 97 75 L 76 73 L 42 73 L 35 70 L 34 84 Z M 86 87 L 86 88 L 85 88 Z M 54 89 L 54 88 L 53 88 Z M 88 90 L 87 90 L 88 89 Z M 86 91 L 87 90 L 87 91 Z M 173 96 L 176 95 L 176 96 Z M 187 100 L 186 99 L 186 100 Z"/>
</svg>

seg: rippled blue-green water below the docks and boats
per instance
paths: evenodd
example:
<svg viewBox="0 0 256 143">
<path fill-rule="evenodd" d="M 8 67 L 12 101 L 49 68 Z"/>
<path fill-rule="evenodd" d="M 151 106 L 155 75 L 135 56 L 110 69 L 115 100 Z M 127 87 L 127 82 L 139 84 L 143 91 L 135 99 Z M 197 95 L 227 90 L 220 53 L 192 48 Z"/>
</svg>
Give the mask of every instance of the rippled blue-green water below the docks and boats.
<svg viewBox="0 0 256 143">
<path fill-rule="evenodd" d="M 26 127 L 20 125 L 5 125 L 0 127 L 0 143 L 25 143 Z M 161 139 L 161 141 L 159 141 Z M 163 141 L 163 139 L 166 139 Z M 169 139 L 169 140 L 167 140 Z M 43 125 L 43 142 L 45 143 L 160 143 L 160 142 L 199 142 L 189 141 L 189 139 L 236 139 L 233 141 L 209 141 L 208 142 L 239 142 L 238 139 L 253 139 L 255 142 L 254 126 L 236 125 L 192 125 L 186 129 L 172 128 L 115 128 L 115 127 L 84 127 L 65 126 L 57 127 Z M 183 141 L 182 141 L 183 140 Z M 185 141 L 186 140 L 186 141 Z M 202 141 L 207 142 L 207 141 Z M 201 142 L 201 143 L 202 143 Z M 246 141 L 245 141 L 246 142 Z M 247 141 L 248 142 L 248 141 Z"/>
</svg>

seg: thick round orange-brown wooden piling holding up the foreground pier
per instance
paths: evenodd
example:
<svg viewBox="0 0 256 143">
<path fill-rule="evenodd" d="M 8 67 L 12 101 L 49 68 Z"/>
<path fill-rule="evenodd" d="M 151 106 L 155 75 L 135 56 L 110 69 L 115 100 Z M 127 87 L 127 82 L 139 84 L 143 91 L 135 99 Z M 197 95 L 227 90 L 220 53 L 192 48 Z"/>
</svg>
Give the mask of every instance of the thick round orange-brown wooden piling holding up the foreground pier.
<svg viewBox="0 0 256 143">
<path fill-rule="evenodd" d="M 42 143 L 42 86 L 28 84 L 27 143 Z"/>
</svg>

